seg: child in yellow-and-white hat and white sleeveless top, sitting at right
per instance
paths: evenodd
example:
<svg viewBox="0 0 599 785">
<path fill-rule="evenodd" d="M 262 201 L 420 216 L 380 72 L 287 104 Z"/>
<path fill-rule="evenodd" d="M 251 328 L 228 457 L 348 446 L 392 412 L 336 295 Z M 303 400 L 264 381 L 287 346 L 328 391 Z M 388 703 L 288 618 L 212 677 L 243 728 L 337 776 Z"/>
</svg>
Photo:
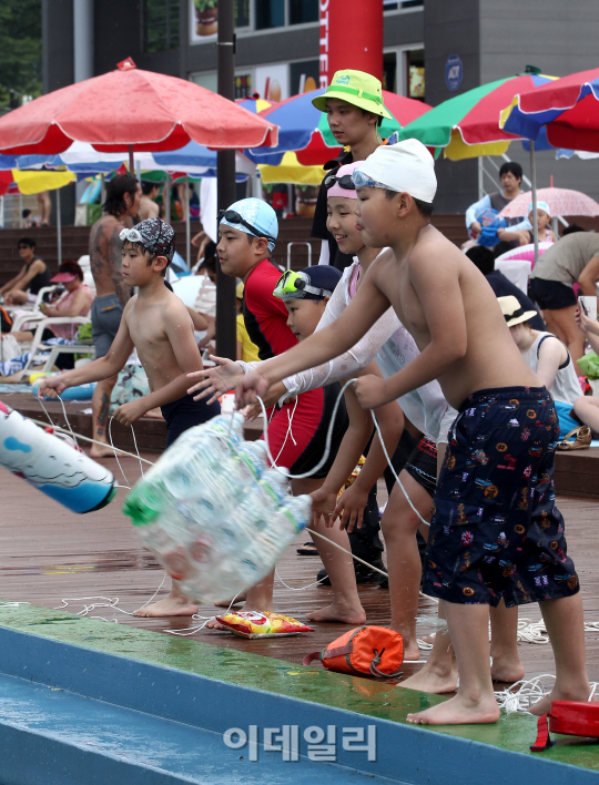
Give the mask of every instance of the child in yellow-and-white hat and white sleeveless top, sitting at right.
<svg viewBox="0 0 599 785">
<path fill-rule="evenodd" d="M 529 319 L 537 316 L 536 310 L 524 310 L 516 297 L 497 299 L 525 363 L 551 394 L 559 418 L 560 438 L 564 438 L 578 425 L 570 416 L 581 392 L 572 358 L 555 335 L 532 329 Z"/>
</svg>

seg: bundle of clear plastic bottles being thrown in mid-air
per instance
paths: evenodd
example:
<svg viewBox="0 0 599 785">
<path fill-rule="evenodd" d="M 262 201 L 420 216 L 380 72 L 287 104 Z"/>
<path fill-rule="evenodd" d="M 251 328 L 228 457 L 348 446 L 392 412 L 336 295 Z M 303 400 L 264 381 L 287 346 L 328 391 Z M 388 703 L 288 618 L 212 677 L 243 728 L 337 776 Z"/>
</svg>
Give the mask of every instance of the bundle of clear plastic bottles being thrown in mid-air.
<svg viewBox="0 0 599 785">
<path fill-rule="evenodd" d="M 232 598 L 262 580 L 311 519 L 270 469 L 263 441 L 243 440 L 243 416 L 186 430 L 128 495 L 123 511 L 195 601 Z"/>
</svg>

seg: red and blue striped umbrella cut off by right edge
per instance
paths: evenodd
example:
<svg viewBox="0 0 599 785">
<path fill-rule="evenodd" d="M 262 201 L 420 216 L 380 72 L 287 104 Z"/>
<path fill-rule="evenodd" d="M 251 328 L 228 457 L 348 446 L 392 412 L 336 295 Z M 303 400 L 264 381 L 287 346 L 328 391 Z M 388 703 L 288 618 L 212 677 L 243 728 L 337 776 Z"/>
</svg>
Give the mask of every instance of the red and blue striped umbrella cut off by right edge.
<svg viewBox="0 0 599 785">
<path fill-rule="evenodd" d="M 536 142 L 545 128 L 556 147 L 599 152 L 599 68 L 517 92 L 501 116 L 505 131 Z"/>
</svg>

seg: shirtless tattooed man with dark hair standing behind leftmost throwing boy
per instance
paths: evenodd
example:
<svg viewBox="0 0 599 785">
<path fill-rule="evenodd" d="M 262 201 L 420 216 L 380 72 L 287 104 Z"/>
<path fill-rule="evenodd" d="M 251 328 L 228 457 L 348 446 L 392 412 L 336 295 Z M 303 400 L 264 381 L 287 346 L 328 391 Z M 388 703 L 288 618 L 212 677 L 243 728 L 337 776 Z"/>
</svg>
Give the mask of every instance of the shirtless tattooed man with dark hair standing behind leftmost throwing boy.
<svg viewBox="0 0 599 785">
<path fill-rule="evenodd" d="M 141 186 L 130 174 L 119 174 L 106 186 L 105 215 L 90 231 L 90 265 L 95 284 L 95 299 L 91 308 L 92 336 L 95 358 L 104 357 L 114 340 L 121 324 L 123 308 L 129 300 L 129 286 L 121 272 L 120 234 L 131 218 L 138 215 L 141 203 Z M 92 445 L 92 458 L 112 457 L 108 444 L 108 418 L 110 395 L 116 376 L 102 379 L 92 397 L 93 438 L 105 447 Z"/>
</svg>

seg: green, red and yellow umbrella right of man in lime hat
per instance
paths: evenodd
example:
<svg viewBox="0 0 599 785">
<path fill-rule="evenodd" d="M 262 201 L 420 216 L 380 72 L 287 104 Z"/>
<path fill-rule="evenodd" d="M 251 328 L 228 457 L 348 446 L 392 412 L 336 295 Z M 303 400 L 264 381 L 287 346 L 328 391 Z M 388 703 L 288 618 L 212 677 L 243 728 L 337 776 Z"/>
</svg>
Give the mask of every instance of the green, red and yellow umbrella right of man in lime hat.
<svg viewBox="0 0 599 785">
<path fill-rule="evenodd" d="M 427 147 L 443 149 L 445 157 L 451 161 L 502 155 L 510 143 L 521 136 L 499 128 L 501 110 L 518 92 L 540 89 L 554 79 L 539 73 L 524 73 L 481 84 L 444 101 L 409 123 L 399 132 L 399 139 L 414 137 Z"/>
</svg>

